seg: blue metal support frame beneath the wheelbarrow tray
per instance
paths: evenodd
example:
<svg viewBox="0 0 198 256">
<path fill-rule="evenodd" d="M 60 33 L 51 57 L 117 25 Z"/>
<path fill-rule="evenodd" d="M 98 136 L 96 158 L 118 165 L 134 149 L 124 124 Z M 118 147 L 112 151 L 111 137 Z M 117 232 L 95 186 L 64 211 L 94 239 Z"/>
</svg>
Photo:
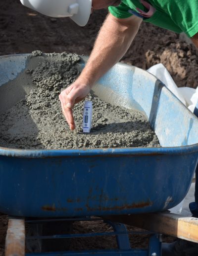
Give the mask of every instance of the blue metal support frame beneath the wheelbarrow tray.
<svg viewBox="0 0 198 256">
<path fill-rule="evenodd" d="M 96 221 L 100 218 L 74 218 L 73 221 Z M 50 222 L 51 220 L 30 220 L 29 223 Z M 52 221 L 71 221 L 71 219 L 53 219 Z M 52 235 L 52 236 L 31 236 L 26 239 L 62 239 L 62 238 L 79 238 L 79 237 L 96 237 L 96 236 L 116 236 L 118 249 L 112 250 L 84 250 L 84 251 L 66 251 L 66 252 L 44 252 L 44 253 L 27 253 L 26 256 L 90 256 L 97 254 L 99 256 L 116 256 L 116 255 L 130 255 L 130 256 L 161 256 L 161 237 L 148 231 L 130 231 L 128 232 L 125 225 L 122 223 L 115 223 L 105 221 L 112 226 L 114 232 L 100 232 L 87 234 L 67 234 L 67 235 Z M 149 238 L 148 249 L 132 249 L 129 241 L 129 234 L 151 234 Z"/>
</svg>

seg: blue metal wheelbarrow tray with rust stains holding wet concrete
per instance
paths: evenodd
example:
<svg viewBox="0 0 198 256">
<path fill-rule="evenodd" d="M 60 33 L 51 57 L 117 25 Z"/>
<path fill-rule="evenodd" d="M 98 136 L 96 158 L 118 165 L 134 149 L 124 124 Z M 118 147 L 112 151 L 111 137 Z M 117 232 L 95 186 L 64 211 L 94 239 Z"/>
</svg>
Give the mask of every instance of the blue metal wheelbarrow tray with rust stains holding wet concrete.
<svg viewBox="0 0 198 256">
<path fill-rule="evenodd" d="M 25 69 L 46 58 L 0 57 L 1 113 L 31 90 Z M 111 104 L 143 112 L 161 147 L 1 147 L 0 212 L 32 217 L 145 213 L 169 209 L 185 197 L 198 162 L 196 116 L 155 76 L 127 64 L 116 64 L 93 91 Z"/>
</svg>

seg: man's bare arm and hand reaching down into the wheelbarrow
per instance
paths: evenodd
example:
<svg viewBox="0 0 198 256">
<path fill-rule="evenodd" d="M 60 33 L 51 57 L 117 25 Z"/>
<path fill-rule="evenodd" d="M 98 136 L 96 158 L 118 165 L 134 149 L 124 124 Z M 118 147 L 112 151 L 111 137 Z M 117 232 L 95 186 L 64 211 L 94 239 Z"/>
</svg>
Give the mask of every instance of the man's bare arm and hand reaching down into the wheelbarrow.
<svg viewBox="0 0 198 256">
<path fill-rule="evenodd" d="M 74 104 L 84 99 L 94 83 L 123 57 L 141 22 L 142 19 L 136 16 L 126 19 L 115 18 L 111 14 L 107 16 L 85 68 L 78 79 L 59 95 L 70 129 L 75 128 L 72 113 Z"/>
</svg>

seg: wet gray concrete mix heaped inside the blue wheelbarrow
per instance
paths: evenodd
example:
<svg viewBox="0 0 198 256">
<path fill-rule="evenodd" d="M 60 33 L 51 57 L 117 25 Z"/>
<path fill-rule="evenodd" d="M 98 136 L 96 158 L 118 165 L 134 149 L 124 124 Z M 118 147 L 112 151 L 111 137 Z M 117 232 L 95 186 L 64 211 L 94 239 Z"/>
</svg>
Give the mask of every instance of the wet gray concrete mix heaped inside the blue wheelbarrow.
<svg viewBox="0 0 198 256">
<path fill-rule="evenodd" d="M 42 56 L 35 51 L 32 57 Z M 58 95 L 79 75 L 76 54 L 50 54 L 35 70 L 26 70 L 34 87 L 9 111 L 0 116 L 0 146 L 21 149 L 68 149 L 107 147 L 158 147 L 147 118 L 89 95 L 93 102 L 90 134 L 82 132 L 83 102 L 74 107 L 75 131 L 62 115 Z"/>
</svg>

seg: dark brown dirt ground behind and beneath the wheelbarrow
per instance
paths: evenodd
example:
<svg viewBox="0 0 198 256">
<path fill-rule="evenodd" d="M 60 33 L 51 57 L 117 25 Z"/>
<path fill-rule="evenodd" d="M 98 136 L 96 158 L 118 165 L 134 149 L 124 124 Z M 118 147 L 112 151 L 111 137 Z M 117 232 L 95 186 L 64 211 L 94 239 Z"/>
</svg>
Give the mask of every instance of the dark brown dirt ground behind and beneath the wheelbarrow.
<svg viewBox="0 0 198 256">
<path fill-rule="evenodd" d="M 89 55 L 106 14 L 106 10 L 95 11 L 85 27 L 78 27 L 68 18 L 55 19 L 38 14 L 22 6 L 19 0 L 1 0 L 0 55 L 31 53 L 35 50 Z M 196 88 L 198 85 L 198 55 L 195 48 L 181 42 L 179 35 L 151 24 L 142 24 L 122 62 L 144 69 L 162 63 L 179 87 Z M 6 225 L 7 216 L 1 215 L 0 255 L 3 255 Z M 134 241 L 135 245 L 140 246 L 145 239 L 135 237 Z M 108 240 L 98 242 L 102 246 L 109 244 Z"/>
</svg>

